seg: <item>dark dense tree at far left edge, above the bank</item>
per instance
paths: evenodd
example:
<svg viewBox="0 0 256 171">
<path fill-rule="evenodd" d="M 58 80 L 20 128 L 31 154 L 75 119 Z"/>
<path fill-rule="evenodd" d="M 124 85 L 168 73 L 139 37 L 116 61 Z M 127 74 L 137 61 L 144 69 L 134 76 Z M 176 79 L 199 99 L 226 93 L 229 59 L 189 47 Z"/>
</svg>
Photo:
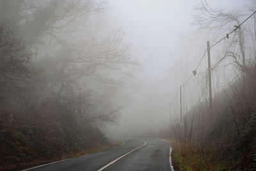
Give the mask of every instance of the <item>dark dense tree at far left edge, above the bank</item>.
<svg viewBox="0 0 256 171">
<path fill-rule="evenodd" d="M 0 23 L 0 94 L 1 101 L 26 98 L 22 90 L 26 89 L 28 79 L 36 74 L 31 63 L 31 53 L 17 36 L 10 22 Z"/>
</svg>

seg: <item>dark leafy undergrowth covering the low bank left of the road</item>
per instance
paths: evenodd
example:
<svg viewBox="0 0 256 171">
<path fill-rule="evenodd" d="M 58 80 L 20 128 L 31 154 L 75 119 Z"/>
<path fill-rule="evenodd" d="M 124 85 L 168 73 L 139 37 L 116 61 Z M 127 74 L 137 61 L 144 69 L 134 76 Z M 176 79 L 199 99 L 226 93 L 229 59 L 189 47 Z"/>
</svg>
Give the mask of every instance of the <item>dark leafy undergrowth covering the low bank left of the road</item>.
<svg viewBox="0 0 256 171">
<path fill-rule="evenodd" d="M 1 111 L 1 168 L 10 170 L 111 147 L 100 130 L 65 119 Z M 4 114 L 3 114 L 4 113 Z M 68 113 L 65 113 L 68 115 Z"/>
</svg>

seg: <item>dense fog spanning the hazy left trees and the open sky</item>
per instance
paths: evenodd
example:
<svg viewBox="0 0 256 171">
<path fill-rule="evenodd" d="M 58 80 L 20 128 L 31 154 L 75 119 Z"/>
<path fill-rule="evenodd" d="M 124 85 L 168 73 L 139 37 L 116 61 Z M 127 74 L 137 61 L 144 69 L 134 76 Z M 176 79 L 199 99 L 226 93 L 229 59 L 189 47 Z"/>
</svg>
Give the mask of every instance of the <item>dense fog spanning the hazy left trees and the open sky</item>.
<svg viewBox="0 0 256 171">
<path fill-rule="evenodd" d="M 232 24 L 200 27 L 196 16 L 202 4 L 239 15 L 255 5 L 239 0 L 1 1 L 3 27 L 12 27 L 10 34 L 28 50 L 31 73 L 22 77 L 35 84 L 26 90 L 33 95 L 19 94 L 19 105 L 31 108 L 41 96 L 70 99 L 83 106 L 71 105 L 77 115 L 109 136 L 157 133 L 180 113 L 180 85 L 184 114 L 208 96 L 207 57 L 201 60 L 206 41 L 221 38 Z M 212 50 L 212 64 L 221 50 Z M 234 76 L 230 65 L 217 69 L 214 94 Z M 191 77 L 193 70 L 200 74 Z"/>
</svg>

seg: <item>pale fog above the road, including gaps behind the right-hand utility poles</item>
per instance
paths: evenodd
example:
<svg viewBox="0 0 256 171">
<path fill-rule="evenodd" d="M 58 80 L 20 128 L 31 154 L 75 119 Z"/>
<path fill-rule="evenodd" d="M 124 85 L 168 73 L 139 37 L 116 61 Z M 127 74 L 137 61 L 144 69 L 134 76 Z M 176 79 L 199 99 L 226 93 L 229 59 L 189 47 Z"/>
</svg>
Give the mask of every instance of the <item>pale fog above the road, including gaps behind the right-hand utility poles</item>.
<svg viewBox="0 0 256 171">
<path fill-rule="evenodd" d="M 253 1 L 207 1 L 213 9 L 250 13 Z M 179 115 L 179 88 L 196 69 L 207 47 L 225 36 L 225 32 L 200 29 L 195 24 L 196 10 L 201 1 L 109 1 L 109 20 L 124 31 L 124 41 L 128 42 L 131 54 L 138 60 L 139 70 L 127 85 L 135 93 L 117 120 L 118 126 L 111 126 L 109 133 L 116 135 L 147 135 L 157 133 L 168 126 Z M 244 10 L 248 9 L 248 10 Z M 222 31 L 232 29 L 225 27 Z M 219 51 L 219 52 L 218 52 Z M 212 64 L 221 57 L 221 47 L 212 50 Z M 218 54 L 219 53 L 219 54 Z M 221 66 L 232 61 L 225 59 Z M 198 67 L 198 73 L 207 70 L 207 56 Z M 225 72 L 225 77 L 221 73 Z M 213 74 L 214 92 L 227 85 L 227 77 L 232 75 L 232 67 L 218 68 Z M 218 75 L 218 76 L 217 76 Z M 217 80 L 218 77 L 218 80 Z M 183 111 L 188 111 L 198 102 L 202 94 L 205 78 L 196 75 L 184 86 Z M 202 87 L 198 87 L 198 86 Z M 205 91 L 207 94 L 207 90 Z M 171 103 L 171 104 L 170 104 Z M 172 122 L 172 121 L 171 121 Z"/>
</svg>

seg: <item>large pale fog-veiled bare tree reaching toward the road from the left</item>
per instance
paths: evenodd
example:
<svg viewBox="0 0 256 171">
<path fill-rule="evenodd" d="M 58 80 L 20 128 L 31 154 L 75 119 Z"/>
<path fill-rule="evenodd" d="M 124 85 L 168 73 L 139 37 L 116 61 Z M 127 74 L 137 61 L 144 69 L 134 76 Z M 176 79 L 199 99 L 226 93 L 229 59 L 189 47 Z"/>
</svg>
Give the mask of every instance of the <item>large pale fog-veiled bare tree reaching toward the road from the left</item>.
<svg viewBox="0 0 256 171">
<path fill-rule="evenodd" d="M 86 121 L 114 121 L 122 107 L 111 99 L 136 63 L 122 45 L 121 32 L 107 31 L 99 20 L 106 2 L 24 1 L 23 6 L 28 10 L 20 33 L 37 53 L 32 63 L 40 71 L 33 101 L 51 97 Z"/>
</svg>

